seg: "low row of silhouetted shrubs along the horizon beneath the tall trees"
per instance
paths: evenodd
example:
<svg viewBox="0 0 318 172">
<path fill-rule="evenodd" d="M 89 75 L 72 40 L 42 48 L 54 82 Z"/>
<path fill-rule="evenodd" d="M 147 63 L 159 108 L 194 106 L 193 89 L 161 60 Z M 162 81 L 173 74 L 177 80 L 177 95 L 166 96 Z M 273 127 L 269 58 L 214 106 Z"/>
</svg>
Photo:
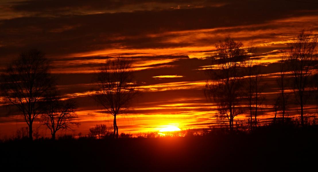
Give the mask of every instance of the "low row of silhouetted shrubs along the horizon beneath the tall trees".
<svg viewBox="0 0 318 172">
<path fill-rule="evenodd" d="M 258 124 L 257 130 L 250 132 L 249 121 L 247 120 L 236 120 L 234 122 L 233 130 L 231 131 L 229 125 L 225 124 L 215 124 L 209 126 L 209 128 L 189 128 L 183 129 L 181 131 L 170 131 L 170 132 L 144 132 L 132 135 L 130 133 L 120 133 L 119 139 L 142 139 L 142 138 L 169 138 L 169 137 L 211 137 L 211 136 L 225 136 L 225 135 L 236 135 L 236 136 L 249 136 L 255 135 L 257 133 L 262 133 L 265 135 L 284 135 L 288 133 L 292 135 L 293 133 L 316 133 L 318 131 L 318 118 L 304 119 L 304 126 L 301 126 L 300 117 L 286 117 L 284 122 L 282 118 L 276 119 L 276 121 L 271 121 L 265 124 Z M 28 137 L 29 128 L 22 127 L 16 131 L 16 133 L 11 137 L 3 137 L 0 139 L 1 142 L 15 142 L 29 140 Z M 43 137 L 39 133 L 38 128 L 33 131 L 34 140 L 49 140 L 50 138 Z M 56 137 L 58 140 L 114 140 L 114 135 L 112 127 L 107 127 L 105 124 L 96 124 L 94 127 L 89 129 L 88 134 L 83 135 L 82 133 L 77 134 L 60 134 Z"/>
</svg>

